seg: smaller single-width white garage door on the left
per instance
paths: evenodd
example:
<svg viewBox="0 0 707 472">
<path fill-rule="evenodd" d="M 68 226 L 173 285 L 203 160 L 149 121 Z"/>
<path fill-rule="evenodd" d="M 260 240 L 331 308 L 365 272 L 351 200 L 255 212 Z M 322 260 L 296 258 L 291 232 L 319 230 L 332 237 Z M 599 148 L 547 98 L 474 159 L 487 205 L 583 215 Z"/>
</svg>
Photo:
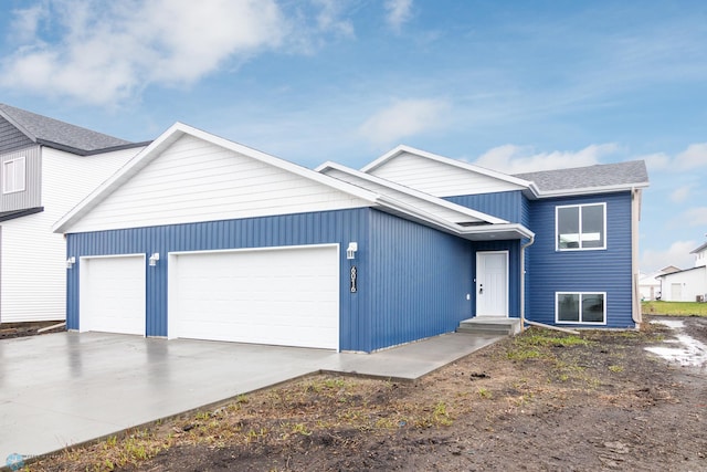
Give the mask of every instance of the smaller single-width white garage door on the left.
<svg viewBox="0 0 707 472">
<path fill-rule="evenodd" d="M 82 258 L 80 279 L 80 331 L 145 336 L 144 254 Z"/>
</svg>

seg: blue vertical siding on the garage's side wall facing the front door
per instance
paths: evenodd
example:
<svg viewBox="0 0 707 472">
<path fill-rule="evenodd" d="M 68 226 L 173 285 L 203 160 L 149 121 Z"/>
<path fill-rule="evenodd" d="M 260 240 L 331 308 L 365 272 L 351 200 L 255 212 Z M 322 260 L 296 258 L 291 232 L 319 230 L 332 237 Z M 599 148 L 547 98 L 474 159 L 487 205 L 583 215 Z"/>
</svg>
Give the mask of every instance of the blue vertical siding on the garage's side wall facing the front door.
<svg viewBox="0 0 707 472">
<path fill-rule="evenodd" d="M 373 211 L 366 279 L 368 349 L 456 329 L 471 317 L 468 241 Z"/>
</svg>

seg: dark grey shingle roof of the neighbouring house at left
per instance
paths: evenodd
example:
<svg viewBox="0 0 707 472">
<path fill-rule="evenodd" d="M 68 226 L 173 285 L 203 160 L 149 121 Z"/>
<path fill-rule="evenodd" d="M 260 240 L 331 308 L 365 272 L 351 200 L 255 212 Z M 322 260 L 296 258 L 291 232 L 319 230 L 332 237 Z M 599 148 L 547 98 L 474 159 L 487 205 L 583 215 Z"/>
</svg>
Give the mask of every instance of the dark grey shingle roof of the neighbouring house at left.
<svg viewBox="0 0 707 472">
<path fill-rule="evenodd" d="M 82 128 L 0 103 L 0 115 L 36 144 L 87 155 L 107 148 L 131 147 L 135 143 Z"/>
</svg>

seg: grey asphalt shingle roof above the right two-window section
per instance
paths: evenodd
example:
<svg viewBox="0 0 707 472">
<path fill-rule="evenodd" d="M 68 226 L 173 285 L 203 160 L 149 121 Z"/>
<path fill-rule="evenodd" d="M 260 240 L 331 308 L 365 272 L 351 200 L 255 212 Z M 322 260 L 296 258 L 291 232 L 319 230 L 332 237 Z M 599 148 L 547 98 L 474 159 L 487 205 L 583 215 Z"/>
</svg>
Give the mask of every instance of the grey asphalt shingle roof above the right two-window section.
<svg viewBox="0 0 707 472">
<path fill-rule="evenodd" d="M 516 174 L 514 177 L 535 182 L 540 191 L 645 185 L 648 182 L 648 172 L 643 160 Z"/>
</svg>

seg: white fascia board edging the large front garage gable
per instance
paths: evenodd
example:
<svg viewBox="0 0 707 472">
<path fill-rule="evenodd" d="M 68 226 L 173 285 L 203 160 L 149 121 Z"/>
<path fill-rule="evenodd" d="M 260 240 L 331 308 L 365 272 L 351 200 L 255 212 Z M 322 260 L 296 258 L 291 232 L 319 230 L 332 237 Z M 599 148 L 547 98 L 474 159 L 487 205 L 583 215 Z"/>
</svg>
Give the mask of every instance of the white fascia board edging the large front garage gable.
<svg viewBox="0 0 707 472">
<path fill-rule="evenodd" d="M 260 150 L 255 150 L 247 146 L 224 139 L 222 137 L 212 135 L 210 133 L 197 129 L 183 123 L 175 123 L 165 133 L 162 133 L 157 139 L 155 139 L 149 146 L 138 153 L 135 157 L 128 160 L 120 169 L 118 169 L 108 180 L 103 182 L 98 188 L 91 192 L 84 200 L 82 200 L 76 207 L 74 207 L 68 213 L 62 217 L 54 225 L 52 231 L 56 233 L 66 232 L 66 230 L 84 214 L 98 206 L 103 200 L 117 190 L 123 183 L 133 178 L 143 168 L 156 159 L 163 149 L 169 147 L 177 139 L 183 135 L 191 135 L 207 143 L 223 147 L 224 149 L 232 150 L 234 153 L 242 154 L 271 166 L 281 168 L 292 174 L 305 177 L 310 180 L 315 180 L 325 186 L 340 190 L 345 193 L 349 193 L 354 197 L 367 200 L 372 204 L 378 203 L 378 195 L 362 189 L 360 187 L 352 186 L 333 177 L 325 176 L 306 167 L 298 166 L 287 160 L 279 159 L 277 157 L 267 155 Z"/>
</svg>

